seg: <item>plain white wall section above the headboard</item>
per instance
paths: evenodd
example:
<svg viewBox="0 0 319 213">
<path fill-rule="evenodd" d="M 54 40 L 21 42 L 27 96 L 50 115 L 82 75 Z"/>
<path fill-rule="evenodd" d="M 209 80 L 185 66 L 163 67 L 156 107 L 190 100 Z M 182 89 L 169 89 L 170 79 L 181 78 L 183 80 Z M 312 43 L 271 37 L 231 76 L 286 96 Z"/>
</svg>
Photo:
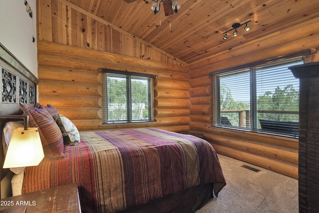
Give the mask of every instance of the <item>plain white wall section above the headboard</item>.
<svg viewBox="0 0 319 213">
<path fill-rule="evenodd" d="M 0 0 L 0 43 L 38 77 L 36 0 L 27 2 L 32 9 L 32 18 L 25 10 L 24 0 Z"/>
</svg>

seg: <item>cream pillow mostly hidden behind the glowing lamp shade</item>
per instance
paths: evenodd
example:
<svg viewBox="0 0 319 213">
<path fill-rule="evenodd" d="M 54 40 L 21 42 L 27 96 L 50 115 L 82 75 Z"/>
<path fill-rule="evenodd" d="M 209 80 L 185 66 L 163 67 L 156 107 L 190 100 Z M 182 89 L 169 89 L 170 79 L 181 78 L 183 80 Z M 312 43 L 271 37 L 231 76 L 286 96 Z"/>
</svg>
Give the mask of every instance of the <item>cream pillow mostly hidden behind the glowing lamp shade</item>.
<svg viewBox="0 0 319 213">
<path fill-rule="evenodd" d="M 8 150 L 8 146 L 10 143 L 12 131 L 16 128 L 24 127 L 24 121 L 9 121 L 5 123 L 3 127 L 3 133 L 2 133 L 2 147 L 3 147 L 3 153 L 6 155 L 6 151 Z M 15 167 L 10 168 L 11 172 L 15 174 L 19 174 L 23 172 L 25 167 Z"/>
</svg>

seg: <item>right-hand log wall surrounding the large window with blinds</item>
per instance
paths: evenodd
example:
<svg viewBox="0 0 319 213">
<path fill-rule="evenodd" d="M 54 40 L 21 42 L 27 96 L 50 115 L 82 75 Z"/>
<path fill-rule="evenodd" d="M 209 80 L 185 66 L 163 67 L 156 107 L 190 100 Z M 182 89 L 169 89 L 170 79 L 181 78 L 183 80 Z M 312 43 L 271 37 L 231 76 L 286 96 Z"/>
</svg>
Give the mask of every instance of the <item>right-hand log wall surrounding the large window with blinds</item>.
<svg viewBox="0 0 319 213">
<path fill-rule="evenodd" d="M 319 18 L 285 29 L 281 36 L 256 39 L 189 64 L 190 128 L 203 134 L 218 153 L 298 179 L 298 139 L 212 127 L 214 99 L 209 74 L 247 63 L 311 49 L 319 61 Z"/>
</svg>

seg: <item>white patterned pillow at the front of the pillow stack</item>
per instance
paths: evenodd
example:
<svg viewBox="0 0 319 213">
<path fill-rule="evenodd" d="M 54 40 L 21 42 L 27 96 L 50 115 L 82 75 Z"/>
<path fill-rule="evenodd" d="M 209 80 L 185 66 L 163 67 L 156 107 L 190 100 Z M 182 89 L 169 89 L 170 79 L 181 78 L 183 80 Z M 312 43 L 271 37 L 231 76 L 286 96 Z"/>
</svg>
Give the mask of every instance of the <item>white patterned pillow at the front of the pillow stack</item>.
<svg viewBox="0 0 319 213">
<path fill-rule="evenodd" d="M 76 126 L 67 117 L 60 114 L 60 120 L 62 124 L 62 135 L 64 145 L 75 146 L 80 142 L 80 133 Z"/>
</svg>

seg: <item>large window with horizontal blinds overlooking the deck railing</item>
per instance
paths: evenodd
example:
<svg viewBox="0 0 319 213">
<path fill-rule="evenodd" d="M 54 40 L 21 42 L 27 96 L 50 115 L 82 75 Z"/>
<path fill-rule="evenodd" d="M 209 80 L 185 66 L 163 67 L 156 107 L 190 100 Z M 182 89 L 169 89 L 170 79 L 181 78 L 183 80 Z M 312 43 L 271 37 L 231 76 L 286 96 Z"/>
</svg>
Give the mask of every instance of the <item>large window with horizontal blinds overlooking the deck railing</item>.
<svg viewBox="0 0 319 213">
<path fill-rule="evenodd" d="M 215 126 L 298 136 L 299 80 L 285 59 L 213 74 Z"/>
</svg>

